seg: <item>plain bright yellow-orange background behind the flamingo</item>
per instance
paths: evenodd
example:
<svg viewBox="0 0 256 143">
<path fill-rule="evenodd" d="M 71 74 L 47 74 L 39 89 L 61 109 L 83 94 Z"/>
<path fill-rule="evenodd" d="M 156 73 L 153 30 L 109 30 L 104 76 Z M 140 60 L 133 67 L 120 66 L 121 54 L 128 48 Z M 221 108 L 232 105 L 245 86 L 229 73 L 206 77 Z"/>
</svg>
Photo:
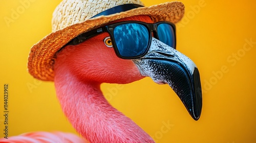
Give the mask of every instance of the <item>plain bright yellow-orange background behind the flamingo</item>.
<svg viewBox="0 0 256 143">
<path fill-rule="evenodd" d="M 31 131 L 75 133 L 61 112 L 54 84 L 34 80 L 27 72 L 30 47 L 51 32 L 52 12 L 60 1 L 27 0 L 26 7 L 24 1 L 0 2 L 0 136 L 6 83 L 9 136 Z M 142 2 L 151 6 L 167 1 Z M 200 120 L 190 117 L 168 85 L 150 78 L 127 85 L 103 84 L 103 93 L 157 142 L 255 142 L 255 1 L 182 2 L 185 15 L 177 24 L 177 50 L 200 71 Z M 7 22 L 8 18 L 12 20 Z M 167 130 L 164 123 L 171 127 Z"/>
</svg>

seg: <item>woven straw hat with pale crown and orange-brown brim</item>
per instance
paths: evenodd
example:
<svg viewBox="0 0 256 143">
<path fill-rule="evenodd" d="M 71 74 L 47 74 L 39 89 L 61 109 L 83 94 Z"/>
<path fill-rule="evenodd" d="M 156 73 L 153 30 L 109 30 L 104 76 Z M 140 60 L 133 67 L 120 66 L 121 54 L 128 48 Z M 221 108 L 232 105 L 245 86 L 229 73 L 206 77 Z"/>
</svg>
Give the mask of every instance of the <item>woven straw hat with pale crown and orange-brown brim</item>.
<svg viewBox="0 0 256 143">
<path fill-rule="evenodd" d="M 31 47 L 28 58 L 29 73 L 36 79 L 53 81 L 56 52 L 81 33 L 99 28 L 111 21 L 135 15 L 148 15 L 154 22 L 176 23 L 184 14 L 184 5 L 181 2 L 168 2 L 93 17 L 102 11 L 124 4 L 143 6 L 139 0 L 63 0 L 53 12 L 52 33 Z"/>
</svg>

